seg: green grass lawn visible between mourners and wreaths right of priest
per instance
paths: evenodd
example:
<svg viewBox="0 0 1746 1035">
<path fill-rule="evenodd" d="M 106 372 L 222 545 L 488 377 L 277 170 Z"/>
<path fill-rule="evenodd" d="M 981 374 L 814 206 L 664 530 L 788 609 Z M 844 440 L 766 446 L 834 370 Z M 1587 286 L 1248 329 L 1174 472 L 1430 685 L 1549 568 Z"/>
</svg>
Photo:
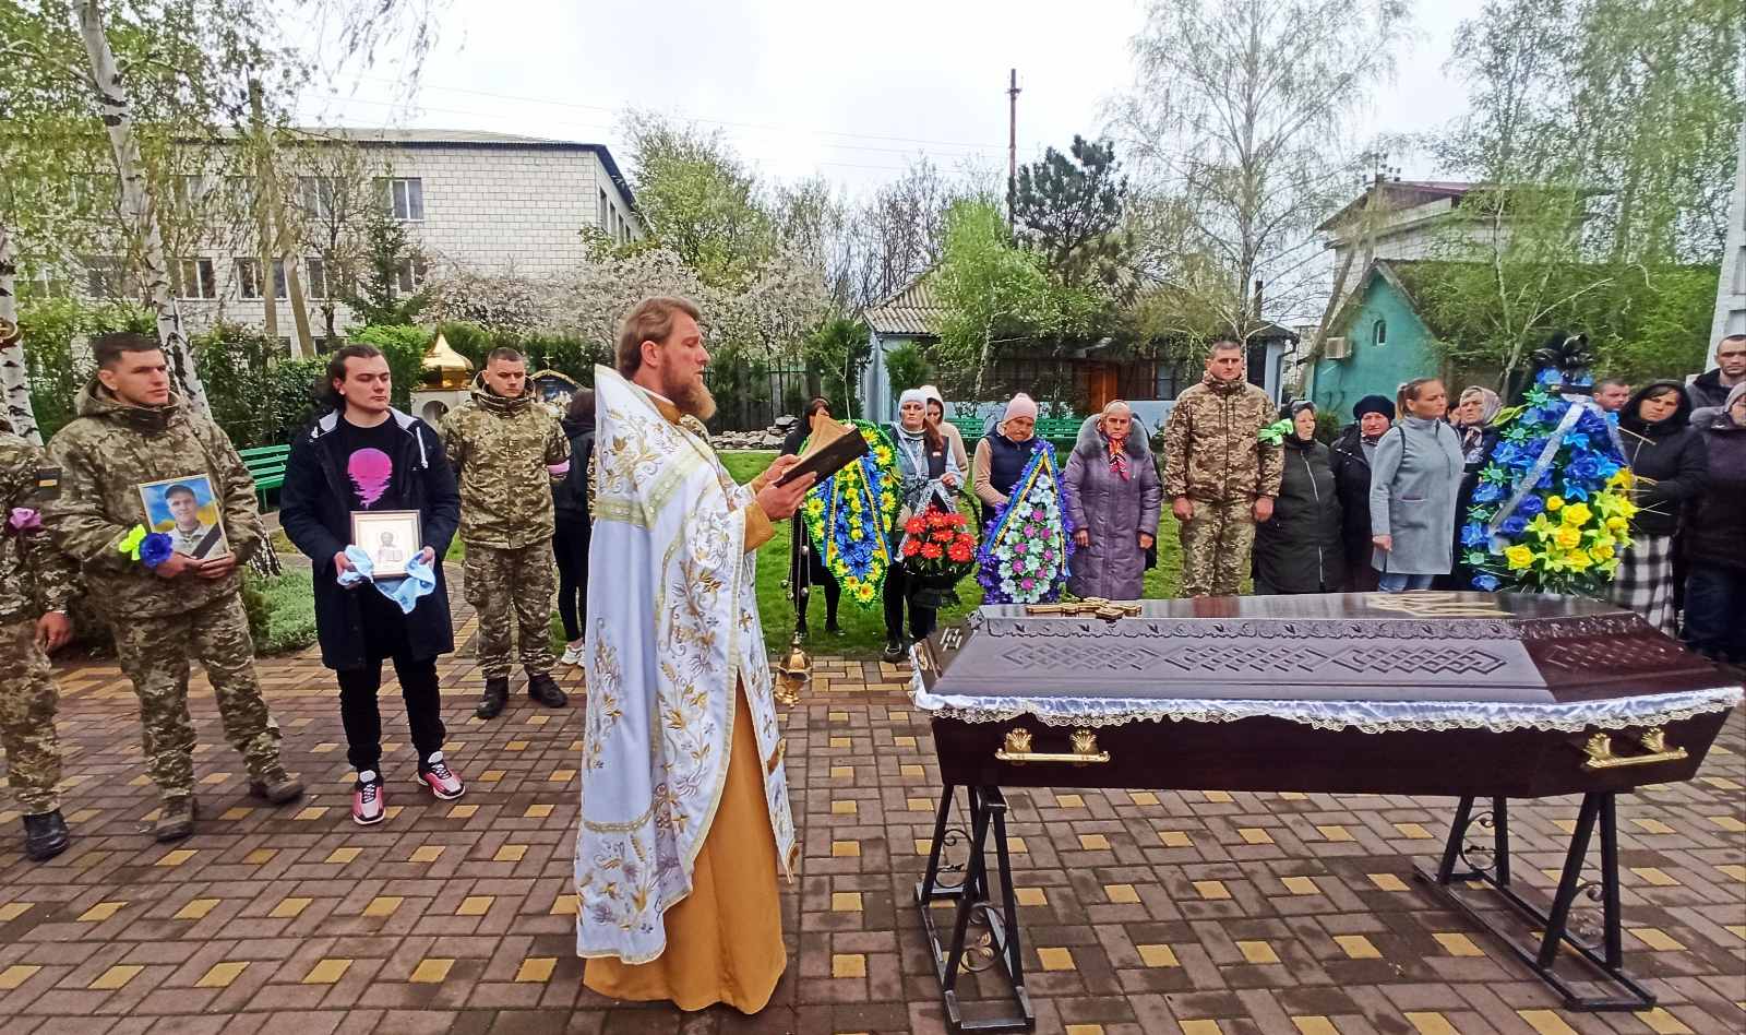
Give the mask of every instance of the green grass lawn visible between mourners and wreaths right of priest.
<svg viewBox="0 0 1746 1035">
<path fill-rule="evenodd" d="M 728 472 L 744 483 L 775 460 L 775 453 L 723 453 L 721 460 L 726 463 Z M 1165 511 L 1165 523 L 1158 535 L 1158 568 L 1145 573 L 1145 596 L 1170 598 L 1177 594 L 1177 579 L 1182 568 L 1180 554 L 1182 547 L 1177 538 L 1175 519 Z M 763 621 L 765 642 L 770 645 L 772 654 L 786 650 L 789 638 L 794 635 L 793 596 L 782 586 L 782 580 L 787 579 L 787 521 L 779 521 L 775 538 L 758 551 L 758 614 Z M 962 603 L 943 610 L 939 615 L 941 622 L 957 621 L 980 605 L 981 586 L 976 584 L 976 579 L 964 579 L 959 584 L 959 596 Z M 812 628 L 812 638 L 807 640 L 808 650 L 815 654 L 875 657 L 885 649 L 885 610 L 880 601 L 875 600 L 871 607 L 859 607 L 845 598 L 838 617 L 845 635 L 828 636 L 824 633 L 824 593 L 815 591 L 807 622 Z"/>
</svg>

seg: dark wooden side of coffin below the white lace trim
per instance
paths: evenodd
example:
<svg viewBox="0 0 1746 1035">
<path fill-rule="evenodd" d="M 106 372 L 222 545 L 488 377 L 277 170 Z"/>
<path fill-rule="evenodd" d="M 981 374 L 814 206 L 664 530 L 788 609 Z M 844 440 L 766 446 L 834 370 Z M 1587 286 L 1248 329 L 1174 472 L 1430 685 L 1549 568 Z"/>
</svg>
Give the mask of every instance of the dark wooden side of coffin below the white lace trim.
<svg viewBox="0 0 1746 1035">
<path fill-rule="evenodd" d="M 1599 771 L 1582 768 L 1587 734 L 1577 733 L 1336 733 L 1283 719 L 1103 726 L 1096 747 L 1110 761 L 1083 766 L 997 761 L 1006 733 L 1020 726 L 1032 733 L 1034 752 L 1070 750 L 1070 727 L 1032 717 L 934 719 L 934 745 L 939 776 L 953 785 L 1543 797 L 1690 780 L 1725 719 L 1709 712 L 1667 724 L 1667 747 L 1683 747 L 1685 759 Z M 1636 733 L 1613 731 L 1620 755 L 1636 750 Z"/>
</svg>

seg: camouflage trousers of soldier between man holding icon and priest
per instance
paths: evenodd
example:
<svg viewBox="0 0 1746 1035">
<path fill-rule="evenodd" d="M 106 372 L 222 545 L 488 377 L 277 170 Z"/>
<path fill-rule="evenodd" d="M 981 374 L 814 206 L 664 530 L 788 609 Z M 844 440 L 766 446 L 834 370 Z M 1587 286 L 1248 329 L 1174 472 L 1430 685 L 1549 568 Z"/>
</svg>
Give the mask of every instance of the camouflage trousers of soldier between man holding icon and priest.
<svg viewBox="0 0 1746 1035">
<path fill-rule="evenodd" d="M 510 675 L 510 615 L 522 668 L 527 675 L 550 673 L 552 594 L 557 575 L 552 568 L 552 540 L 541 538 L 517 549 L 491 545 L 466 547 L 466 601 L 478 614 L 478 668 L 485 678 Z"/>
</svg>

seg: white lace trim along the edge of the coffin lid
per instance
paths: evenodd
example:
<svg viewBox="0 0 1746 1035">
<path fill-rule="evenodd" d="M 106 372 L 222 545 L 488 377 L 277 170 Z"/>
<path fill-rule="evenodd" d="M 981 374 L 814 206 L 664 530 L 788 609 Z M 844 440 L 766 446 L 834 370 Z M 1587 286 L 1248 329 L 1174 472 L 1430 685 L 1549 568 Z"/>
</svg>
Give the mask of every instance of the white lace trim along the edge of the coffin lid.
<svg viewBox="0 0 1746 1035">
<path fill-rule="evenodd" d="M 920 678 L 910 699 L 922 712 L 962 722 L 1006 722 L 1034 715 L 1046 726 L 1121 726 L 1124 722 L 1236 722 L 1240 719 L 1283 719 L 1315 729 L 1360 733 L 1489 729 L 1512 733 L 1540 729 L 1582 733 L 1662 726 L 1708 712 L 1727 712 L 1741 703 L 1739 687 L 1643 694 L 1571 705 L 1502 705 L 1495 701 L 1205 701 L 1131 698 L 964 698 L 929 694 Z"/>
</svg>

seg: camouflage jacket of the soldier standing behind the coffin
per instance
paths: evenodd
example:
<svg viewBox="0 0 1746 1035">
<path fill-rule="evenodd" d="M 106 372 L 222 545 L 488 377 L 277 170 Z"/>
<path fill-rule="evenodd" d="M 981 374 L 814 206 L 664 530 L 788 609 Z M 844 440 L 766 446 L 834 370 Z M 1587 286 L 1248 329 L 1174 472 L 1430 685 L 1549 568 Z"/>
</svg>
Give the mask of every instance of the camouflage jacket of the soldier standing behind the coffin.
<svg viewBox="0 0 1746 1035">
<path fill-rule="evenodd" d="M 1206 374 L 1177 397 L 1165 423 L 1165 495 L 1212 504 L 1278 497 L 1285 456 L 1259 439 L 1273 421 L 1266 392 Z"/>
</svg>

